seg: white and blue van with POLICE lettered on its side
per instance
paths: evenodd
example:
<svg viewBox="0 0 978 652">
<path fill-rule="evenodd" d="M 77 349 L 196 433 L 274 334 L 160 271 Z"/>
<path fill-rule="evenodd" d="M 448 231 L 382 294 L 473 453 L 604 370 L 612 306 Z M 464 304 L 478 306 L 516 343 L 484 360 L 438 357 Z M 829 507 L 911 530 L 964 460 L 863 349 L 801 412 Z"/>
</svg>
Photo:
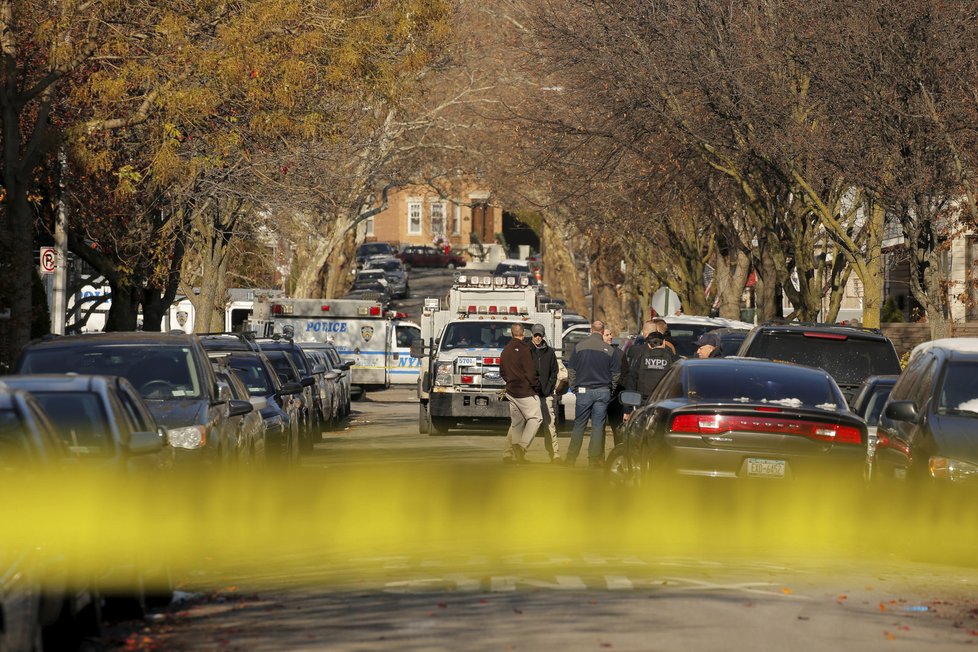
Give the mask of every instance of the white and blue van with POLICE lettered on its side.
<svg viewBox="0 0 978 652">
<path fill-rule="evenodd" d="M 298 344 L 330 342 L 340 357 L 353 362 L 354 387 L 385 389 L 417 385 L 421 361 L 411 343 L 421 329 L 393 319 L 368 299 L 273 299 L 268 306 L 267 334 L 290 335 Z"/>
</svg>

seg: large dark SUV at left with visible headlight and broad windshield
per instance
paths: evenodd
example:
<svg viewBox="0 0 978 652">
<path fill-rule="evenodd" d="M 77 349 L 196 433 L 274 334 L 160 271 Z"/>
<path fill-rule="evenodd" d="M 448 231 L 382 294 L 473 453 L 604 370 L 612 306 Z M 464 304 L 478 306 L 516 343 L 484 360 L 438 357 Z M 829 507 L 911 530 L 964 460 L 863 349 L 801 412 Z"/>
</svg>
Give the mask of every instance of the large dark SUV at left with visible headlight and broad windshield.
<svg viewBox="0 0 978 652">
<path fill-rule="evenodd" d="M 227 464 L 234 458 L 229 419 L 250 405 L 229 405 L 194 335 L 177 333 L 88 333 L 28 344 L 16 373 L 78 373 L 122 376 L 139 391 L 167 429 L 178 464 Z"/>
</svg>

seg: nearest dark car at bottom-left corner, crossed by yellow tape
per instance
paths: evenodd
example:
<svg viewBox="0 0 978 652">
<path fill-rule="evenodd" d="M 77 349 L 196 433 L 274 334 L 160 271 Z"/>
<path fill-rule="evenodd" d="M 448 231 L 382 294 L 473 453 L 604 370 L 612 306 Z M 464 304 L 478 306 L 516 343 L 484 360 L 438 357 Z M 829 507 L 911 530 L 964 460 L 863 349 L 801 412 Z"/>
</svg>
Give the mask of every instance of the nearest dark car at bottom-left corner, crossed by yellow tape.
<svg viewBox="0 0 978 652">
<path fill-rule="evenodd" d="M 67 451 L 27 392 L 0 386 L 0 480 L 28 494 L 64 468 Z M 16 500 L 10 492 L 4 499 Z M 6 523 L 11 527 L 11 523 Z M 64 649 L 101 632 L 101 602 L 90 583 L 72 578 L 60 544 L 0 540 L 0 650 Z"/>
</svg>

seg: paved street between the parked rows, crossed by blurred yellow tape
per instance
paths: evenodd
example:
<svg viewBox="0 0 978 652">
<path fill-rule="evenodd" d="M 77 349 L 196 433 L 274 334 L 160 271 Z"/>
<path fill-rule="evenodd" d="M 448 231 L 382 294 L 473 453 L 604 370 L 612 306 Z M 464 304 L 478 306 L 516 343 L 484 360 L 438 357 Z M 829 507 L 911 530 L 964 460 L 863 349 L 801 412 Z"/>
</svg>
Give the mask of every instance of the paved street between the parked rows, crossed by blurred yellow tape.
<svg viewBox="0 0 978 652">
<path fill-rule="evenodd" d="M 766 488 L 624 498 L 600 473 L 547 464 L 539 441 L 538 463 L 503 465 L 502 442 L 418 435 L 412 392 L 370 395 L 303 462 L 310 497 L 296 515 L 315 526 L 283 518 L 279 556 L 186 569 L 184 602 L 112 630 L 107 645 L 918 650 L 978 639 L 978 573 L 880 547 L 890 537 L 858 513 Z"/>
</svg>

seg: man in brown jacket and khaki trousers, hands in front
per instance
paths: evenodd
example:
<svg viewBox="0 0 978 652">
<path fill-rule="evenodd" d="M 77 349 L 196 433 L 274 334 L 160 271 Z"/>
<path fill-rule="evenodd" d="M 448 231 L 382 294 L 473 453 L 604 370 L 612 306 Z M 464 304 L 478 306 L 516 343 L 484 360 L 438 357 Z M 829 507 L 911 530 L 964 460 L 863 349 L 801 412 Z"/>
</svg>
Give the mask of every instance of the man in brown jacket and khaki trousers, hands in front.
<svg viewBox="0 0 978 652">
<path fill-rule="evenodd" d="M 531 345 L 523 341 L 523 324 L 513 324 L 510 333 L 513 339 L 503 348 L 499 361 L 499 373 L 506 381 L 510 419 L 503 461 L 522 463 L 527 447 L 543 423 L 539 398 L 540 379 L 530 352 Z"/>
</svg>

